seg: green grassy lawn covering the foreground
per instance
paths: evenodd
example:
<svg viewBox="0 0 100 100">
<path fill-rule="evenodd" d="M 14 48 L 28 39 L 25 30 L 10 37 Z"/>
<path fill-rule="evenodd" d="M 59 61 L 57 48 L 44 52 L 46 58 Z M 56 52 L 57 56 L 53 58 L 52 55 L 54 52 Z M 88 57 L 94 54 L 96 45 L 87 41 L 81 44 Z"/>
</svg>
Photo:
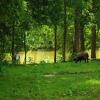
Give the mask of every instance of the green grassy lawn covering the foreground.
<svg viewBox="0 0 100 100">
<path fill-rule="evenodd" d="M 0 100 L 100 100 L 100 61 L 1 67 Z"/>
</svg>

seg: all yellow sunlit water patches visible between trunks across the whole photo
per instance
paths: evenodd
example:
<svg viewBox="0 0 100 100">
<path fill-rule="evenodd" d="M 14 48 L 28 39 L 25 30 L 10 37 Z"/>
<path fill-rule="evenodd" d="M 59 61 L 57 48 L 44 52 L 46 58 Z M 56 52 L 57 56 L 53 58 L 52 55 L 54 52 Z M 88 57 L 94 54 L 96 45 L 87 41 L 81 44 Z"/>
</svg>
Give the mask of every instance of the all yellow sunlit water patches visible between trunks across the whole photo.
<svg viewBox="0 0 100 100">
<path fill-rule="evenodd" d="M 91 51 L 88 51 L 89 58 L 91 55 Z M 20 63 L 24 63 L 25 54 L 24 52 L 19 52 L 20 55 Z M 100 50 L 96 52 L 96 56 L 100 59 Z M 66 59 L 68 59 L 69 54 L 66 53 Z M 61 55 L 57 52 L 57 60 L 61 58 Z M 11 55 L 8 57 L 8 60 L 11 60 Z M 47 62 L 52 63 L 54 61 L 54 51 L 28 51 L 27 52 L 27 63 L 40 63 Z"/>
</svg>

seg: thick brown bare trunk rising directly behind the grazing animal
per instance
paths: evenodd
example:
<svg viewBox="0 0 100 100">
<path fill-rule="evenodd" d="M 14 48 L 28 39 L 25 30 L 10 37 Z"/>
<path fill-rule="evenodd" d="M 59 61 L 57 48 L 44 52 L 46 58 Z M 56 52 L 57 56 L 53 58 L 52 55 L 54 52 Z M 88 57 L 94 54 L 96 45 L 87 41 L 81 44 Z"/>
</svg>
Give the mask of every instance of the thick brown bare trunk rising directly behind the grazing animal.
<svg viewBox="0 0 100 100">
<path fill-rule="evenodd" d="M 73 40 L 73 54 L 85 50 L 84 47 L 84 24 L 82 22 L 82 10 L 79 7 L 75 9 L 75 34 Z"/>
</svg>

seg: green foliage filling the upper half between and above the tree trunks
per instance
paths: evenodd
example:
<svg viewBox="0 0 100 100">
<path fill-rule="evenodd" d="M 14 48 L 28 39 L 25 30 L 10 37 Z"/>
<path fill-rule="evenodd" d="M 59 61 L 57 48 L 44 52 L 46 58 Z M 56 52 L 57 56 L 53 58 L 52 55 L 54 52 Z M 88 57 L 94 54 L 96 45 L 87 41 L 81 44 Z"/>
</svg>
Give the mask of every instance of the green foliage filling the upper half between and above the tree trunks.
<svg viewBox="0 0 100 100">
<path fill-rule="evenodd" d="M 63 45 L 63 0 L 1 0 L 0 1 L 0 52 L 11 52 L 12 33 L 14 28 L 14 48 L 54 49 L 54 26 L 57 30 L 57 49 Z M 92 10 L 94 4 L 95 9 Z M 91 48 L 91 26 L 97 25 L 97 48 L 100 47 L 100 3 L 98 0 L 66 0 L 67 6 L 67 44 L 66 49 L 72 52 L 75 33 L 75 9 L 82 11 L 80 22 L 85 26 L 85 48 Z M 7 44 L 7 45 L 6 45 Z"/>
</svg>

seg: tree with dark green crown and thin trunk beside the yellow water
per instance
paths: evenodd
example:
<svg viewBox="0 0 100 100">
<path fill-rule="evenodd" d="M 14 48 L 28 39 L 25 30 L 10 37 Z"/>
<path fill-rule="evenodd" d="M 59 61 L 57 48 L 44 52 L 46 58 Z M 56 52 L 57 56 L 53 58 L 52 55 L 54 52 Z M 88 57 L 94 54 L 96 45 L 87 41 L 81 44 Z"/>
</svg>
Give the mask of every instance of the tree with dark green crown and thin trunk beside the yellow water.
<svg viewBox="0 0 100 100">
<path fill-rule="evenodd" d="M 29 3 L 32 8 L 33 18 L 39 24 L 51 25 L 54 28 L 54 62 L 56 63 L 57 26 L 62 15 L 61 0 L 30 0 Z"/>
</svg>

